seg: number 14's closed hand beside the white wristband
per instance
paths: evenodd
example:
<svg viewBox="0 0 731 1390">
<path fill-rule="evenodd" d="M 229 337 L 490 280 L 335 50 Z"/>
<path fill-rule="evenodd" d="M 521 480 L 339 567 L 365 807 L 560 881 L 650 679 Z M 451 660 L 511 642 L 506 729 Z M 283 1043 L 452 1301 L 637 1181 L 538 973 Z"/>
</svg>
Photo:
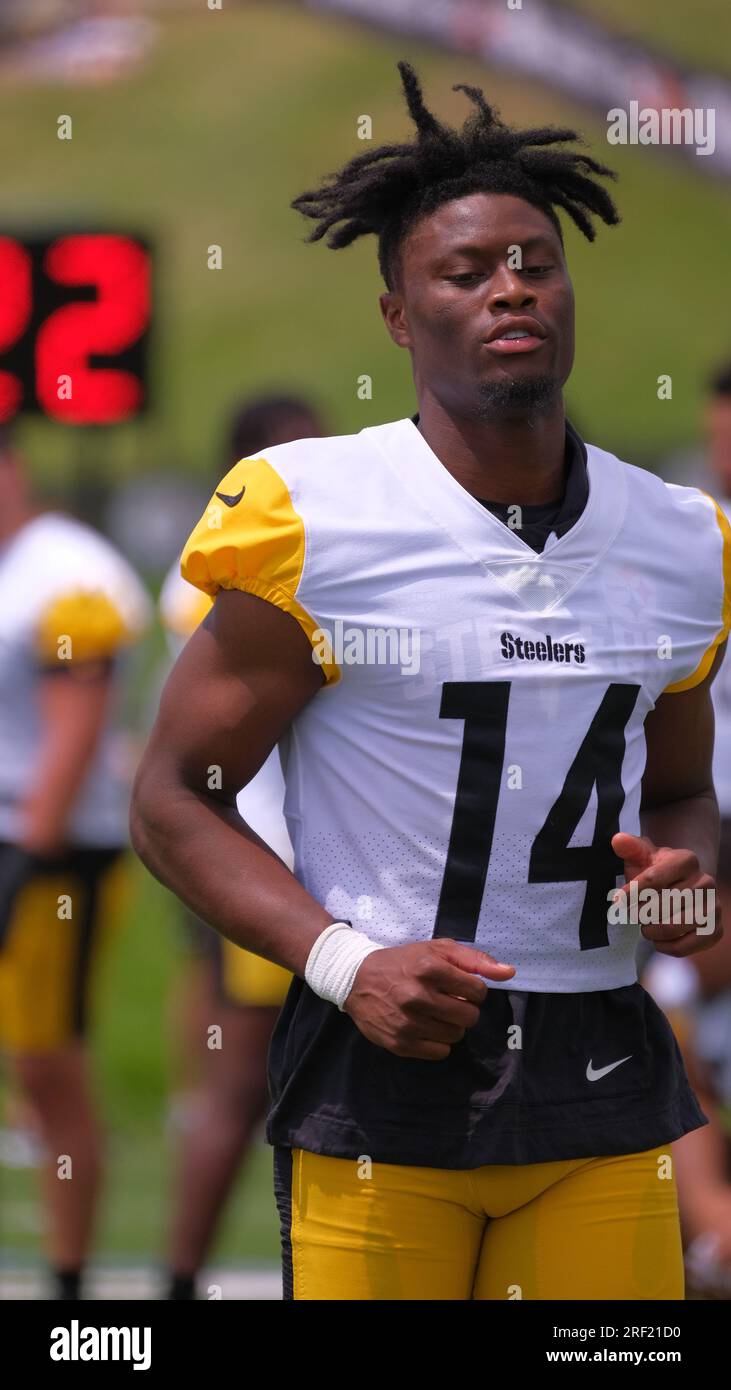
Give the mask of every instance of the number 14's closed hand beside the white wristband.
<svg viewBox="0 0 731 1390">
<path fill-rule="evenodd" d="M 359 966 L 343 1012 L 388 1052 L 442 1062 L 479 1017 L 488 992 L 479 976 L 510 980 L 514 973 L 485 951 L 446 938 L 386 947 Z"/>
</svg>

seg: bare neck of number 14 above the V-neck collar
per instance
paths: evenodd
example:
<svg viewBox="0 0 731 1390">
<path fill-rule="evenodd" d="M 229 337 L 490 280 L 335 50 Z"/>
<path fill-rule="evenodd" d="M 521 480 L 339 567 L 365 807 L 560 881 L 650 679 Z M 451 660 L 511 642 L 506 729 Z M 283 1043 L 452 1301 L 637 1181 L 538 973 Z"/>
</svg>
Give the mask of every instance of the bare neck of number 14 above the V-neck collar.
<svg viewBox="0 0 731 1390">
<path fill-rule="evenodd" d="M 429 392 L 418 402 L 418 430 L 447 473 L 474 498 L 539 506 L 564 488 L 563 400 L 541 414 L 482 421 L 447 414 Z"/>
</svg>

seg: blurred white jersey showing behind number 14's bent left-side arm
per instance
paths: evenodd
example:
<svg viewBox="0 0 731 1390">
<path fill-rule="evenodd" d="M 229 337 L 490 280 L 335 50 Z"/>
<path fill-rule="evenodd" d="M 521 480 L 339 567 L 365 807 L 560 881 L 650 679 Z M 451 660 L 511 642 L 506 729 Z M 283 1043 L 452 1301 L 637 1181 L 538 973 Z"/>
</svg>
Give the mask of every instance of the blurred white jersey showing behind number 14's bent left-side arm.
<svg viewBox="0 0 731 1390">
<path fill-rule="evenodd" d="M 211 599 L 188 584 L 178 562 L 171 566 L 160 589 L 160 617 L 165 628 L 170 651 L 178 656 L 188 638 L 203 621 Z M 256 777 L 236 796 L 236 809 L 254 834 L 293 867 L 295 855 L 289 840 L 285 812 L 285 781 L 279 753 L 274 748 Z"/>
</svg>

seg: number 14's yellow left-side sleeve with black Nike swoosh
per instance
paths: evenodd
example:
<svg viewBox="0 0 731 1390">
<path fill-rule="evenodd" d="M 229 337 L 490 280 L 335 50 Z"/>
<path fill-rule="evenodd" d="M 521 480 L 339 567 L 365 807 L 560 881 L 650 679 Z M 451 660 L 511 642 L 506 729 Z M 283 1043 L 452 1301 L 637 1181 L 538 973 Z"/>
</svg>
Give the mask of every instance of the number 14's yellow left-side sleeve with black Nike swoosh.
<svg viewBox="0 0 731 1390">
<path fill-rule="evenodd" d="M 243 589 L 267 599 L 290 613 L 322 653 L 318 626 L 297 599 L 303 566 L 304 521 L 286 484 L 267 459 L 242 459 L 192 532 L 181 574 L 211 598 L 220 589 Z M 318 656 L 328 684 L 340 676 L 331 656 L 327 649 Z"/>
</svg>

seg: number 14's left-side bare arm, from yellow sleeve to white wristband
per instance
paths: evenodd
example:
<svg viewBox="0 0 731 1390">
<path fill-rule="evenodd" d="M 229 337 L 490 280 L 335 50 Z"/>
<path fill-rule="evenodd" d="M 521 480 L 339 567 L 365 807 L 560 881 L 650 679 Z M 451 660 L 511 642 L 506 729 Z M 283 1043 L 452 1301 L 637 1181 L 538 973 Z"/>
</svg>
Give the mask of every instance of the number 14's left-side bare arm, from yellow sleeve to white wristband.
<svg viewBox="0 0 731 1390">
<path fill-rule="evenodd" d="M 236 945 L 299 974 L 332 922 L 245 824 L 236 792 L 322 685 L 288 613 L 220 594 L 168 678 L 132 794 L 132 844 Z"/>
</svg>

